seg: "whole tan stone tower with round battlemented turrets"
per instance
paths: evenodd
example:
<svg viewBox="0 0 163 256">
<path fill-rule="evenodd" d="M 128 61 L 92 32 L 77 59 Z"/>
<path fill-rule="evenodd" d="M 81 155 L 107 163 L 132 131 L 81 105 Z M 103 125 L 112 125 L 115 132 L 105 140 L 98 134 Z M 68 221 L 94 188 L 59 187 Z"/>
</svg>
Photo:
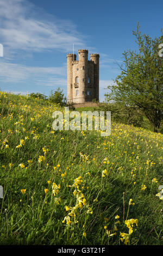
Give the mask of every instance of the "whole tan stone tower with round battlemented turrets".
<svg viewBox="0 0 163 256">
<path fill-rule="evenodd" d="M 93 99 L 99 100 L 99 54 L 91 54 L 88 50 L 67 54 L 67 103 L 85 103 Z"/>
</svg>

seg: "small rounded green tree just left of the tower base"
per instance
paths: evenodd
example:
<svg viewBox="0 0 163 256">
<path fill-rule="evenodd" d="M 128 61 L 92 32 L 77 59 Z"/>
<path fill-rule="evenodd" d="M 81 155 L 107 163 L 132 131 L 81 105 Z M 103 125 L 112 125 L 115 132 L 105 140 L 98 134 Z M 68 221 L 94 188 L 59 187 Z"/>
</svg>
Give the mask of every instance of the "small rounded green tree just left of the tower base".
<svg viewBox="0 0 163 256">
<path fill-rule="evenodd" d="M 66 97 L 63 93 L 63 90 L 61 90 L 59 87 L 57 90 L 54 91 L 51 90 L 51 95 L 49 96 L 49 101 L 59 104 L 61 106 L 66 105 Z"/>
</svg>

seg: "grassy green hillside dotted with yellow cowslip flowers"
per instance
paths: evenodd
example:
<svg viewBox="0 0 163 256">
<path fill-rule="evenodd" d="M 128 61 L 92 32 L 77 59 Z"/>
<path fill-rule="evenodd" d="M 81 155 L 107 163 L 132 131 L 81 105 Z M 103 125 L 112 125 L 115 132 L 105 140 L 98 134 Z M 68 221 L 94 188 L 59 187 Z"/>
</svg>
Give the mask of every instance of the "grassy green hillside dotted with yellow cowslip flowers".
<svg viewBox="0 0 163 256">
<path fill-rule="evenodd" d="M 163 135 L 53 131 L 57 106 L 0 100 L 1 245 L 163 245 Z"/>
</svg>

